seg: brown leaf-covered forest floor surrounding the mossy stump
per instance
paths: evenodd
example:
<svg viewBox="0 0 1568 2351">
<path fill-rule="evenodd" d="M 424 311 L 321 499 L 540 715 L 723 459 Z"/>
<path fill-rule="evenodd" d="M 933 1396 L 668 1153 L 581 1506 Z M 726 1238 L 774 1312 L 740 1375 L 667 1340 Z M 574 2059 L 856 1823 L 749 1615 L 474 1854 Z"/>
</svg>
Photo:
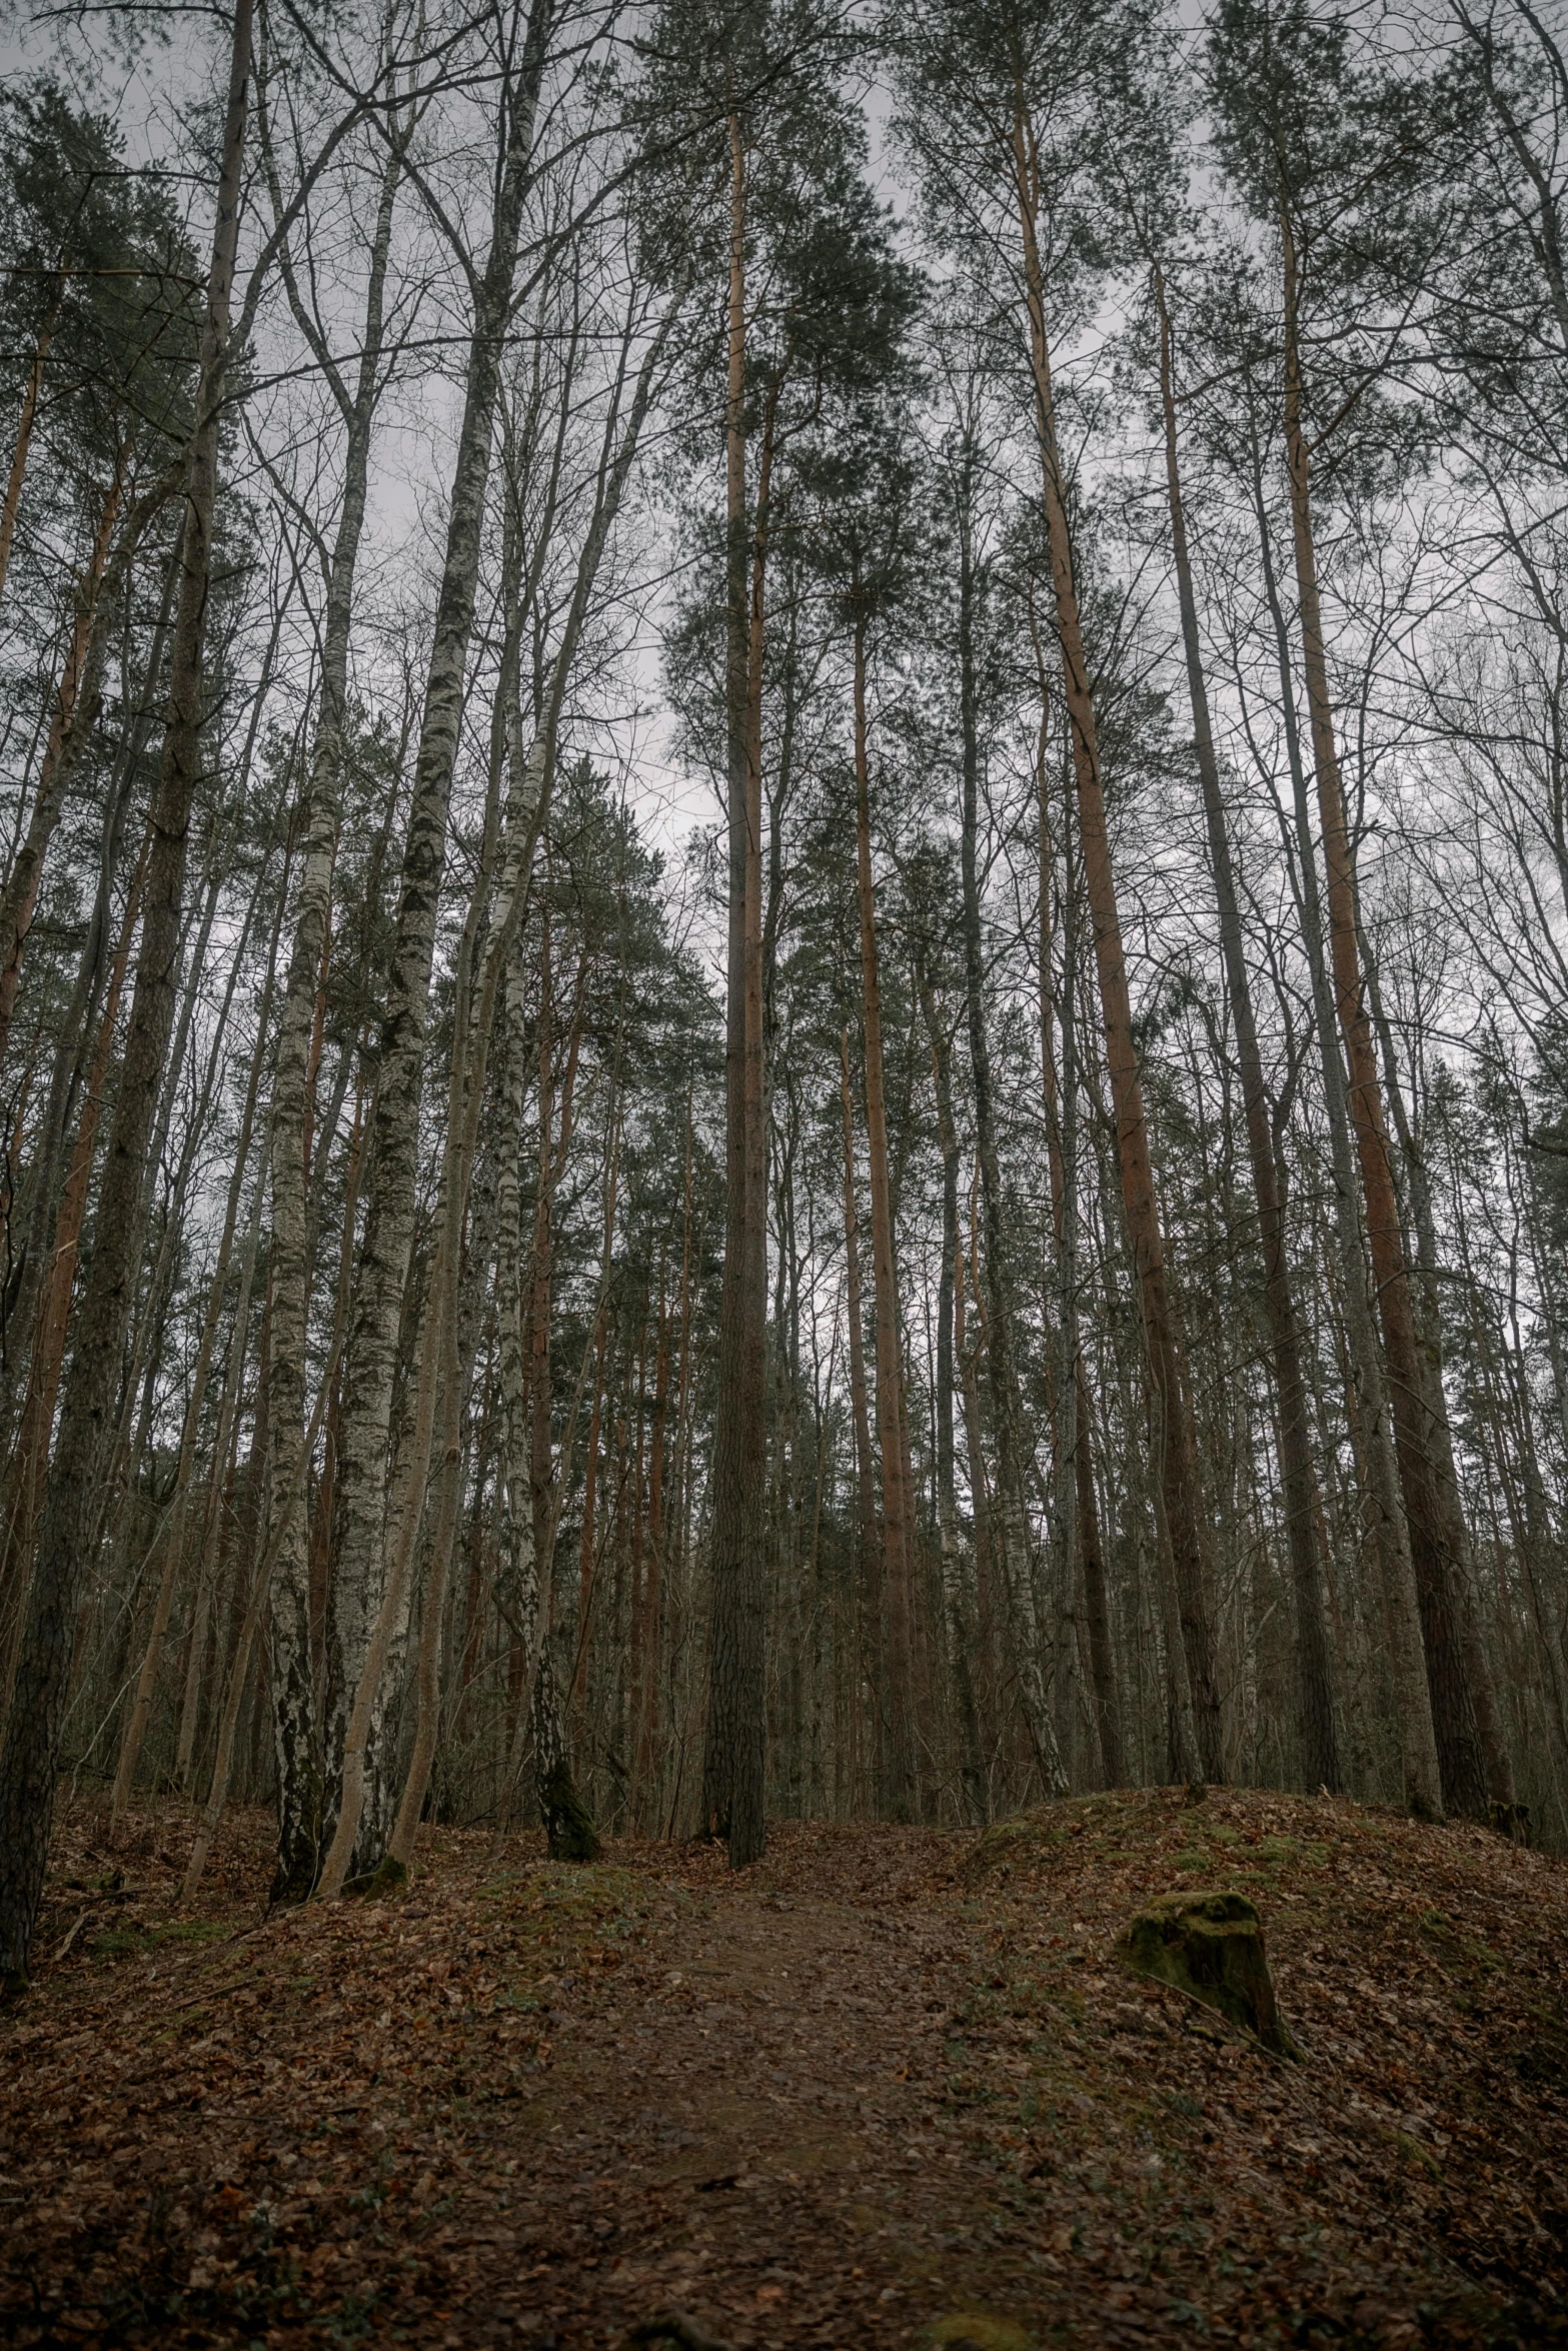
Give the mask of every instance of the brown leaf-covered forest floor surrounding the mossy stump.
<svg viewBox="0 0 1568 2351">
<path fill-rule="evenodd" d="M 428 1831 L 261 1916 L 240 1817 L 73 1810 L 0 2022 L 0 2337 L 1568 2344 L 1568 1862 L 1328 1799 L 1063 1801 L 726 1874 Z M 1258 1902 L 1286 2064 L 1114 1961 Z"/>
</svg>

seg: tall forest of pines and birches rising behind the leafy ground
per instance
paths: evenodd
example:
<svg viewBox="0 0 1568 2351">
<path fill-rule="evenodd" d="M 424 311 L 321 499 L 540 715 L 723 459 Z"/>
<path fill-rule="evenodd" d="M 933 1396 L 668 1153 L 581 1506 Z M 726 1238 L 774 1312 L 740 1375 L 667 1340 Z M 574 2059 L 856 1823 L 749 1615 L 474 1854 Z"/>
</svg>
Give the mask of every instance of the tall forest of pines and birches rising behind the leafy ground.
<svg viewBox="0 0 1568 2351">
<path fill-rule="evenodd" d="M 1563 1850 L 1556 12 L 9 42 L 9 1991 L 82 1801 Z"/>
</svg>

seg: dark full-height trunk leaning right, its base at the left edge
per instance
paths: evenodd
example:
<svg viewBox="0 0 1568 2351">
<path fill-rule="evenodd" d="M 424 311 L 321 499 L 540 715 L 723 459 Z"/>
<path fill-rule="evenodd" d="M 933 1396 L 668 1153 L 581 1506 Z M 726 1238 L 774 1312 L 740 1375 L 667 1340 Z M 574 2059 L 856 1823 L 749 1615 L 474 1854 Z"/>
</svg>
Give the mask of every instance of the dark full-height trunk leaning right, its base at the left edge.
<svg viewBox="0 0 1568 2351">
<path fill-rule="evenodd" d="M 240 237 L 240 176 L 249 99 L 252 0 L 237 0 L 216 228 L 195 388 L 195 440 L 186 482 L 183 574 L 174 628 L 169 719 L 153 802 L 153 851 L 141 917 L 136 987 L 120 1063 L 115 1124 L 99 1192 L 92 1267 L 78 1314 L 49 1493 L 38 1531 L 28 1625 L 5 1751 L 0 1754 L 0 1977 L 21 1982 L 42 1895 L 59 1742 L 71 1679 L 71 1634 L 89 1568 L 99 1474 L 113 1427 L 141 1270 L 146 1157 L 174 1023 L 186 839 L 200 771 L 207 590 L 219 480 L 219 411 L 228 362 L 228 301 Z"/>
</svg>

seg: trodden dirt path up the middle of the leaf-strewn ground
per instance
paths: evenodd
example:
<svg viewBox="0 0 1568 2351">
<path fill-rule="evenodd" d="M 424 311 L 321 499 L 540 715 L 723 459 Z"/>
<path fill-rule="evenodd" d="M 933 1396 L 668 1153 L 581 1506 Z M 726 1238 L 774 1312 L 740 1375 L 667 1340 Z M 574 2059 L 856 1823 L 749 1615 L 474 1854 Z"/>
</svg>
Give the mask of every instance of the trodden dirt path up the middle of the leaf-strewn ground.
<svg viewBox="0 0 1568 2351">
<path fill-rule="evenodd" d="M 961 2151 L 929 2097 L 971 1954 L 917 1893 L 952 1862 L 940 1841 L 900 1848 L 914 1886 L 889 1883 L 886 1848 L 860 1857 L 863 1902 L 682 1904 L 609 2015 L 555 2043 L 517 2238 L 545 2252 L 557 2339 L 682 2309 L 757 2342 L 907 2342 L 931 2316 L 931 2175 Z M 943 2189 L 961 2241 L 973 2182 Z"/>
</svg>

